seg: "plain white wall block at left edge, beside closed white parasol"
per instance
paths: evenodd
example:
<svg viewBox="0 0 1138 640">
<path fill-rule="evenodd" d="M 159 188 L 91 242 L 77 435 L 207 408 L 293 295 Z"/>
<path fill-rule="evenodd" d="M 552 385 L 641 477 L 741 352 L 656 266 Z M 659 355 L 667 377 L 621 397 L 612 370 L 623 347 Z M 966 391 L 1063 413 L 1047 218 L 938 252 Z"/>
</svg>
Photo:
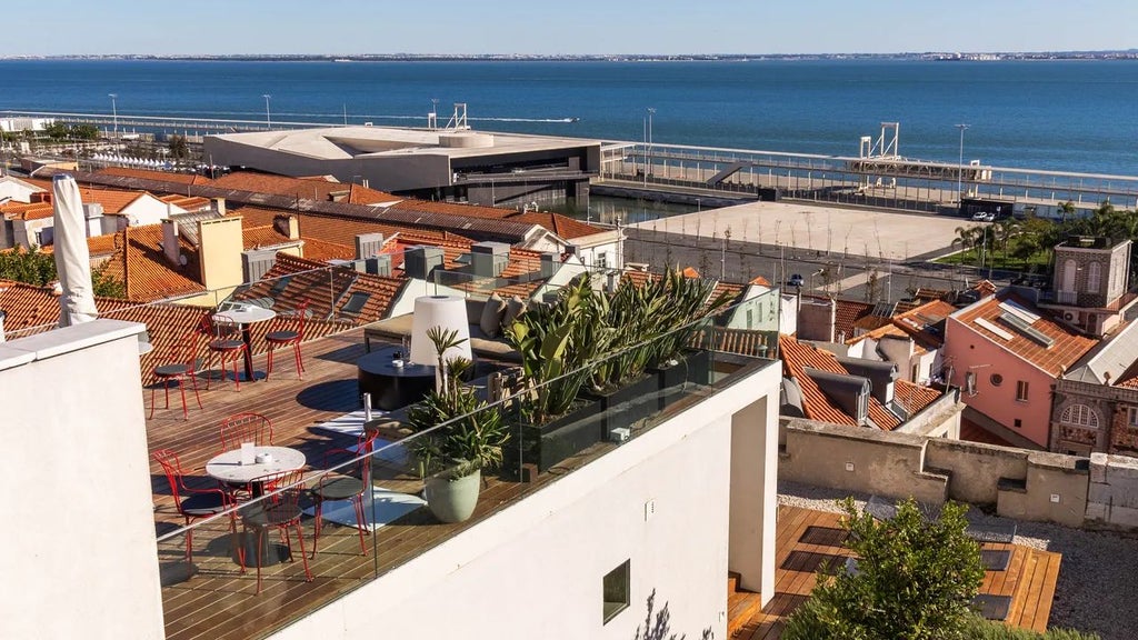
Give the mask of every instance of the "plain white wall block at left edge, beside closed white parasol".
<svg viewBox="0 0 1138 640">
<path fill-rule="evenodd" d="M 138 333 L 0 344 L 5 638 L 164 638 Z"/>
</svg>

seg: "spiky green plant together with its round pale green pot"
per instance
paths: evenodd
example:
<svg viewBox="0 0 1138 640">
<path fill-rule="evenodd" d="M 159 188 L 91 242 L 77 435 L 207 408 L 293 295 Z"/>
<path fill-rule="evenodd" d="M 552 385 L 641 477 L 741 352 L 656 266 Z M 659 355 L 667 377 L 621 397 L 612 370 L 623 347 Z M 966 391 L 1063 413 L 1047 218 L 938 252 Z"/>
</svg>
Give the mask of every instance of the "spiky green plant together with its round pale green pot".
<svg viewBox="0 0 1138 640">
<path fill-rule="evenodd" d="M 481 470 L 502 465 L 509 429 L 502 413 L 488 410 L 486 401 L 462 383 L 470 360 L 443 360 L 448 348 L 462 344 L 457 333 L 434 327 L 427 337 L 438 353 L 439 384 L 407 410 L 412 430 L 427 432 L 413 440 L 411 451 L 419 459 L 431 512 L 444 523 L 457 523 L 475 511 Z"/>
</svg>

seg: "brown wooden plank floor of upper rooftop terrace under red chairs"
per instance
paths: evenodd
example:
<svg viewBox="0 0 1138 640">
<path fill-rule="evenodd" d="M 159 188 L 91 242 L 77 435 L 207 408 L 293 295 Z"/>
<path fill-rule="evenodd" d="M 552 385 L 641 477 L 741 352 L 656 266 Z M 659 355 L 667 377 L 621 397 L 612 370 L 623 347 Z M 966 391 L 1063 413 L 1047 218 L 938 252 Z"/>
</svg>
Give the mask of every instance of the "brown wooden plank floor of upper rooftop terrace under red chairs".
<svg viewBox="0 0 1138 640">
<path fill-rule="evenodd" d="M 304 358 L 305 379 L 298 380 L 291 361 L 274 370 L 269 380 L 242 384 L 236 391 L 231 381 L 213 385 L 201 391 L 198 409 L 192 395 L 189 399 L 189 419 L 182 419 L 181 404 L 172 396 L 174 405 L 163 409 L 162 391 L 154 419 L 147 421 L 151 451 L 173 449 L 179 453 L 187 471 L 200 484 L 211 484 L 205 476 L 206 461 L 220 450 L 221 421 L 236 412 L 254 411 L 265 415 L 273 424 L 273 443 L 305 452 L 310 465 L 321 462 L 322 452 L 330 446 L 355 444 L 354 438 L 314 428 L 324 421 L 358 409 L 355 361 L 364 353 L 361 329 L 306 343 Z M 264 358 L 255 360 L 264 369 Z M 275 364 L 275 363 L 274 363 Z M 149 410 L 149 389 L 146 391 Z M 522 499 L 564 473 L 579 468 L 589 460 L 611 450 L 615 445 L 596 444 L 555 468 L 555 473 L 541 474 L 535 482 L 517 483 L 500 477 L 484 478 L 478 508 L 473 517 L 461 524 L 439 524 L 426 508 L 378 530 L 365 538 L 368 556 L 363 556 L 355 528 L 323 527 L 320 548 L 310 560 L 315 579 L 305 582 L 304 569 L 296 556 L 295 563 L 281 563 L 263 569 L 263 589 L 256 594 L 256 571 L 239 572 L 230 555 L 232 536 L 229 519 L 207 523 L 193 535 L 193 565 L 197 575 L 188 581 L 164 586 L 162 590 L 166 637 L 172 640 L 258 638 L 289 624 L 329 601 L 356 589 L 374 576 L 414 558 L 434 545 L 472 526 L 495 511 Z M 159 535 L 174 531 L 182 519 L 173 500 L 162 468 L 151 460 L 151 479 L 155 494 L 155 519 Z M 377 471 L 377 476 L 381 476 Z M 418 493 L 422 484 L 414 474 L 388 469 L 379 484 L 391 491 Z M 303 520 L 305 544 L 311 550 L 312 518 Z M 273 534 L 273 540 L 277 540 Z M 296 540 L 294 549 L 299 552 Z M 378 553 L 373 551 L 378 549 Z M 159 560 L 167 568 L 181 568 L 184 558 L 184 536 L 175 535 L 159 543 Z"/>
</svg>

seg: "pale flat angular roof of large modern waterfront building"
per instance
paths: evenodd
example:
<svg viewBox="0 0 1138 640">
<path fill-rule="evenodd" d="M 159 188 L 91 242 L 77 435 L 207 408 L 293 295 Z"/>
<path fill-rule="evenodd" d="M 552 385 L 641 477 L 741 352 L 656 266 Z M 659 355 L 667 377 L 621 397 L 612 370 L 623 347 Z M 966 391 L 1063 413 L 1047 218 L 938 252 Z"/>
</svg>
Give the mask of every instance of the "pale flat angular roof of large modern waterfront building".
<svg viewBox="0 0 1138 640">
<path fill-rule="evenodd" d="M 575 149 L 600 146 L 600 140 L 522 136 L 454 129 L 398 129 L 387 126 L 329 126 L 224 133 L 209 136 L 230 142 L 322 159 L 401 155 L 446 155 L 452 158 L 497 154 Z M 442 139 L 468 139 L 481 146 L 443 146 Z"/>
</svg>

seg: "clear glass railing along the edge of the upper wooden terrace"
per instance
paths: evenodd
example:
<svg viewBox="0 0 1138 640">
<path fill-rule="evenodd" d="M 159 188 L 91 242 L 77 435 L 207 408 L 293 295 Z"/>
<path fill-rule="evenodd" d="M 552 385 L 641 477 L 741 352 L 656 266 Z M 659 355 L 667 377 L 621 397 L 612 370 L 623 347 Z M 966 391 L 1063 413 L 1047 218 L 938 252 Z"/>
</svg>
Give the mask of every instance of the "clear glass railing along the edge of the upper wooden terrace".
<svg viewBox="0 0 1138 640">
<path fill-rule="evenodd" d="M 167 635 L 212 637 L 233 620 L 242 621 L 248 637 L 270 635 L 770 366 L 753 355 L 757 348 L 729 348 L 777 345 L 776 326 L 734 326 L 745 321 L 739 318 L 745 319 L 748 309 L 753 320 L 760 309 L 769 313 L 764 303 L 777 304 L 776 289 L 760 297 L 594 356 L 550 379 L 526 379 L 520 367 L 477 369 L 450 404 L 432 403 L 438 397 L 428 396 L 363 422 L 338 442 L 297 442 L 291 450 L 304 453 L 303 486 L 240 486 L 239 504 L 189 526 L 180 526 L 183 520 L 160 483 L 167 492 L 156 497 Z M 744 331 L 750 342 L 725 338 Z M 776 347 L 766 348 L 770 354 Z M 445 412 L 431 412 L 440 405 L 470 410 L 442 420 L 448 417 Z M 454 460 L 454 443 L 469 443 L 475 433 L 487 434 L 479 449 L 481 468 Z M 374 437 L 370 452 L 352 451 L 369 437 Z M 236 460 L 206 465 L 190 481 L 217 486 L 218 478 L 236 477 L 228 474 L 241 475 Z M 286 471 L 287 466 L 298 466 L 297 459 L 283 451 L 272 462 L 244 471 Z M 321 495 L 328 499 L 320 503 L 315 540 Z M 361 511 L 363 533 L 356 526 Z M 469 519 L 450 522 L 461 517 Z M 281 526 L 266 528 L 266 523 Z M 286 525 L 291 550 L 278 531 Z M 259 541 L 258 532 L 264 534 Z"/>
</svg>

